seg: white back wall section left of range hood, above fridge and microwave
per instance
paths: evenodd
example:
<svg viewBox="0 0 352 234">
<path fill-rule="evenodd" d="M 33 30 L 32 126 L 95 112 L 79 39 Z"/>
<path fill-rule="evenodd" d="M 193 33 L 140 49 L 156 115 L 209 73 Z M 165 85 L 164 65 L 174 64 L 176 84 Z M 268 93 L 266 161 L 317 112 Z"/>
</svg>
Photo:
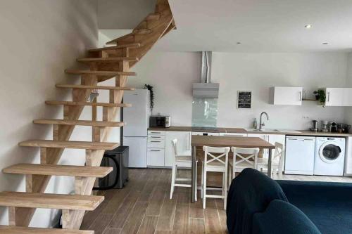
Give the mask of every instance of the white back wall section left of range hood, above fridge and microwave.
<svg viewBox="0 0 352 234">
<path fill-rule="evenodd" d="M 153 115 L 170 115 L 172 125 L 191 126 L 192 83 L 201 77 L 201 56 L 194 52 L 149 52 L 132 71 L 128 85 L 154 87 Z"/>
</svg>

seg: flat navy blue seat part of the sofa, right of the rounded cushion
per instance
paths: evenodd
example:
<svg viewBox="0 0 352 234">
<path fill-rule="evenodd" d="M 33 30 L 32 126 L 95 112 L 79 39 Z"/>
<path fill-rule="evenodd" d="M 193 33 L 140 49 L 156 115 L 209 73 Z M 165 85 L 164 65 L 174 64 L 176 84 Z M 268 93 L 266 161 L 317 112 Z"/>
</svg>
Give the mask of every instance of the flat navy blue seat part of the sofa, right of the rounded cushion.
<svg viewBox="0 0 352 234">
<path fill-rule="evenodd" d="M 323 234 L 352 233 L 352 183 L 278 181 Z"/>
</svg>

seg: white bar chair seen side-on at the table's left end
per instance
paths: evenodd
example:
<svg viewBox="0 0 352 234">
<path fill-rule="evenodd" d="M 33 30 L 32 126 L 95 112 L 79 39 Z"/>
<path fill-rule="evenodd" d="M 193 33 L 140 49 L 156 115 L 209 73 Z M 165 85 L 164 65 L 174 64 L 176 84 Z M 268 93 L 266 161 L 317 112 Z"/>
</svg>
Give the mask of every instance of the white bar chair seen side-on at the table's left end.
<svg viewBox="0 0 352 234">
<path fill-rule="evenodd" d="M 177 178 L 177 167 L 182 167 L 182 169 L 191 169 L 192 168 L 192 157 L 191 155 L 179 155 L 177 152 L 177 139 L 171 141 L 172 149 L 175 155 L 175 160 L 172 164 L 171 172 L 171 190 L 170 190 L 170 199 L 172 199 L 172 193 L 174 193 L 175 187 L 191 187 L 189 183 L 177 183 L 177 181 L 190 181 L 191 178 Z M 197 168 L 197 161 L 196 161 Z M 197 197 L 197 193 L 196 193 Z"/>
</svg>

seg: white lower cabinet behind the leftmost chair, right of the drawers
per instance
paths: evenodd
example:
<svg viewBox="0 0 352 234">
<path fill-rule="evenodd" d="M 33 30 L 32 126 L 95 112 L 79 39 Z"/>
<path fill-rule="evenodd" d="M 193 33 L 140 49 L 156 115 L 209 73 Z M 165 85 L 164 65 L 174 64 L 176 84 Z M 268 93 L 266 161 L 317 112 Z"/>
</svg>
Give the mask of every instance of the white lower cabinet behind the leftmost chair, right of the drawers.
<svg viewBox="0 0 352 234">
<path fill-rule="evenodd" d="M 191 155 L 191 131 L 165 131 L 165 167 L 172 167 L 174 152 L 171 141 L 177 139 L 177 153 Z"/>
</svg>

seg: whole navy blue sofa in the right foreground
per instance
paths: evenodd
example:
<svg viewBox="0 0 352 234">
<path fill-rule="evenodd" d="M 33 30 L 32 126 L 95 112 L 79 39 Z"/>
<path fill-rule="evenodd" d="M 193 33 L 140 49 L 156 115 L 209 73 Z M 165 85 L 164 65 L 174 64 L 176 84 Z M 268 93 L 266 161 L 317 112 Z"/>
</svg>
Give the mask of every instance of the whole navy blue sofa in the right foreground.
<svg viewBox="0 0 352 234">
<path fill-rule="evenodd" d="M 352 233 L 352 184 L 274 181 L 245 169 L 227 197 L 230 234 Z"/>
</svg>

